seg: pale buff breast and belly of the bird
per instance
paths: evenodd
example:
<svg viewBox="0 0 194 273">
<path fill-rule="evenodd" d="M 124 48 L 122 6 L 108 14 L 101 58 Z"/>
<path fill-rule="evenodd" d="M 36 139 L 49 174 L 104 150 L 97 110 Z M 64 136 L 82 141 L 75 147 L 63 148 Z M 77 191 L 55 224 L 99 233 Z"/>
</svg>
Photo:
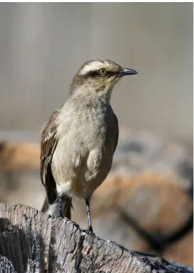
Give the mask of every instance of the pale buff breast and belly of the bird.
<svg viewBox="0 0 194 273">
<path fill-rule="evenodd" d="M 115 146 L 113 112 L 84 107 L 61 117 L 52 170 L 61 191 L 87 198 L 104 181 Z"/>
</svg>

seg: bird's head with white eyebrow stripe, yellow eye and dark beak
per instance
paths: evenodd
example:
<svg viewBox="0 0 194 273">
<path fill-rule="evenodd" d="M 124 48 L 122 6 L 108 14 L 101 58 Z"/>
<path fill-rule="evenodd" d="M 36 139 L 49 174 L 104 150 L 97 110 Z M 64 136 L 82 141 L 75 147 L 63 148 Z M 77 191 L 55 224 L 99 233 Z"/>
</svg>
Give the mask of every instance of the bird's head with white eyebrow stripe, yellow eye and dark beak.
<svg viewBox="0 0 194 273">
<path fill-rule="evenodd" d="M 122 68 L 109 59 L 93 59 L 84 63 L 72 79 L 70 93 L 99 93 L 110 97 L 113 86 L 124 75 L 137 74 L 135 70 Z"/>
</svg>

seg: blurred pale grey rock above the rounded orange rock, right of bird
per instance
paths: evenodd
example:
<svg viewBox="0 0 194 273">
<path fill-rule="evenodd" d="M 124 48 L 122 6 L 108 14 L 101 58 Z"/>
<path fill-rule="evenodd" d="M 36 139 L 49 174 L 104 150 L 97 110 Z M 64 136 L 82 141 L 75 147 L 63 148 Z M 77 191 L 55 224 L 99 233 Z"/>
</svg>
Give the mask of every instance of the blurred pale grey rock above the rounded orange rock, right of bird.
<svg viewBox="0 0 194 273">
<path fill-rule="evenodd" d="M 148 131 L 122 128 L 112 172 L 133 176 L 142 171 L 168 176 L 183 189 L 193 183 L 193 142 Z"/>
</svg>

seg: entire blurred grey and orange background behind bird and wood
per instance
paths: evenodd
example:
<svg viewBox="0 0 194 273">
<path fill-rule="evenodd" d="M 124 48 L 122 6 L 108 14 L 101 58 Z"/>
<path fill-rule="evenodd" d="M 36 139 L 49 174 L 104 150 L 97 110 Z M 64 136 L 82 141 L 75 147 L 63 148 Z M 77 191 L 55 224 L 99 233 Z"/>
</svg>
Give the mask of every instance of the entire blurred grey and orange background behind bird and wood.
<svg viewBox="0 0 194 273">
<path fill-rule="evenodd" d="M 193 265 L 193 3 L 0 3 L 0 36 L 0 201 L 41 209 L 41 125 L 81 64 L 113 59 L 139 74 L 113 92 L 120 138 L 95 234 Z"/>
</svg>

